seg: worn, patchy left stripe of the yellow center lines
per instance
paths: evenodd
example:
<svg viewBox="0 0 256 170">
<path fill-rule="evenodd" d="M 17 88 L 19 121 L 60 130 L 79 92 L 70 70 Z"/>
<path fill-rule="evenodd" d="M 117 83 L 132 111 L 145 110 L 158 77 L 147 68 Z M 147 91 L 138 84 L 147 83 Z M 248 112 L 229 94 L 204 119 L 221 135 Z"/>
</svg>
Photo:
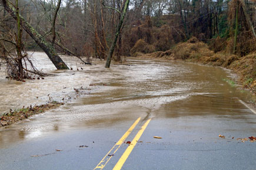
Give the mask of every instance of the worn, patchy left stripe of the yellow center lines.
<svg viewBox="0 0 256 170">
<path fill-rule="evenodd" d="M 95 169 L 103 169 L 108 161 L 112 158 L 109 157 L 108 155 L 113 155 L 115 154 L 115 152 L 117 152 L 117 150 L 121 147 L 121 145 L 124 143 L 124 141 L 126 140 L 126 138 L 129 136 L 129 134 L 131 134 L 132 130 L 134 130 L 134 128 L 136 127 L 136 125 L 139 123 L 139 120 L 141 120 L 141 117 L 139 117 L 134 124 L 131 125 L 131 127 L 128 129 L 127 132 L 125 132 L 124 135 L 122 135 L 122 137 L 119 139 L 119 141 L 114 145 L 114 147 L 112 147 L 110 149 L 110 151 L 105 155 L 105 157 L 101 160 L 101 162 L 99 162 L 99 164 L 94 168 Z M 112 152 L 114 151 L 114 152 Z"/>
</svg>

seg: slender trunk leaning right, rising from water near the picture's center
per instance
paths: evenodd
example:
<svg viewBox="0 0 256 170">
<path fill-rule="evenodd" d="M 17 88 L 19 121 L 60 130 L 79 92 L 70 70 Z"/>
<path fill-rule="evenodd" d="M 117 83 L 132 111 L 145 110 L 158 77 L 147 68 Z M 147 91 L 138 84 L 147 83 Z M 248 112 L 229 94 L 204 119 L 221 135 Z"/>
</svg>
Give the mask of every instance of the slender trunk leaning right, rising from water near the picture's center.
<svg viewBox="0 0 256 170">
<path fill-rule="evenodd" d="M 124 5 L 124 11 L 122 12 L 122 16 L 119 20 L 119 23 L 118 23 L 118 26 L 117 26 L 117 30 L 115 32 L 115 39 L 114 41 L 112 42 L 112 45 L 109 49 L 109 53 L 108 53 L 108 57 L 107 57 L 107 62 L 105 64 L 105 67 L 106 68 L 109 68 L 110 67 L 110 63 L 111 63 L 111 58 L 112 58 L 112 55 L 114 53 L 114 50 L 115 50 L 115 45 L 117 43 L 117 39 L 118 39 L 118 36 L 119 36 L 119 33 L 120 33 L 120 30 L 121 30 L 121 27 L 122 27 L 122 23 L 124 22 L 124 17 L 125 17 L 125 14 L 127 13 L 127 9 L 128 9 L 128 6 L 129 6 L 129 0 L 126 0 L 125 1 L 125 5 Z"/>
</svg>

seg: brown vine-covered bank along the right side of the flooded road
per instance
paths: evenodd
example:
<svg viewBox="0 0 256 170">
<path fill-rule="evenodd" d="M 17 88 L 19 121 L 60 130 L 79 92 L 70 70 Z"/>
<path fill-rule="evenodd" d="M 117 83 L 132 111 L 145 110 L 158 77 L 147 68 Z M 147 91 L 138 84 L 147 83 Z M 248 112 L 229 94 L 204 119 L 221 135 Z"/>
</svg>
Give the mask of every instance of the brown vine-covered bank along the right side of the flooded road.
<svg viewBox="0 0 256 170">
<path fill-rule="evenodd" d="M 147 44 L 135 45 L 132 51 L 134 57 L 147 57 L 167 60 L 184 60 L 187 62 L 202 63 L 212 66 L 221 66 L 231 69 L 238 74 L 240 83 L 245 89 L 250 89 L 253 94 L 252 100 L 256 101 L 256 52 L 247 56 L 238 57 L 236 55 L 227 55 L 227 53 L 214 53 L 208 45 L 200 42 L 197 38 L 191 38 L 187 42 L 179 43 L 173 49 L 165 52 L 154 52 L 144 54 L 139 49 L 144 49 Z M 138 50 L 136 50 L 138 49 Z"/>
</svg>

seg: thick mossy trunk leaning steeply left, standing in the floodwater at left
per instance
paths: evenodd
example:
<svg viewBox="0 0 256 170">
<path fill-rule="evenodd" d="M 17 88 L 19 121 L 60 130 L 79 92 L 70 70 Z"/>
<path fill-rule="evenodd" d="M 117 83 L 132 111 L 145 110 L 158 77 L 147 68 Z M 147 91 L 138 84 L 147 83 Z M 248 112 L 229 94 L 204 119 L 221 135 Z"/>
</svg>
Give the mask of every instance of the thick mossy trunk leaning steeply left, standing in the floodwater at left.
<svg viewBox="0 0 256 170">
<path fill-rule="evenodd" d="M 5 10 L 10 13 L 12 18 L 17 20 L 17 17 L 15 15 L 15 9 L 12 8 L 10 3 L 6 0 L 1 0 L 0 3 L 4 6 Z M 42 50 L 44 50 L 52 63 L 54 63 L 56 69 L 69 69 L 68 66 L 62 61 L 61 57 L 58 56 L 54 47 L 46 42 L 44 37 L 39 34 L 28 22 L 26 22 L 20 14 L 19 18 L 21 19 L 22 27 L 24 28 L 24 30 L 31 36 L 32 39 L 35 40 L 38 46 L 41 47 Z"/>
</svg>

